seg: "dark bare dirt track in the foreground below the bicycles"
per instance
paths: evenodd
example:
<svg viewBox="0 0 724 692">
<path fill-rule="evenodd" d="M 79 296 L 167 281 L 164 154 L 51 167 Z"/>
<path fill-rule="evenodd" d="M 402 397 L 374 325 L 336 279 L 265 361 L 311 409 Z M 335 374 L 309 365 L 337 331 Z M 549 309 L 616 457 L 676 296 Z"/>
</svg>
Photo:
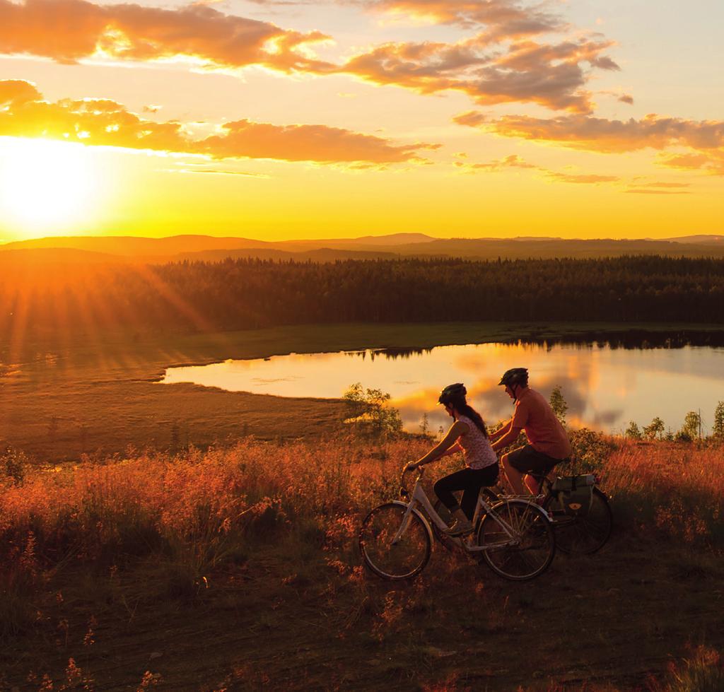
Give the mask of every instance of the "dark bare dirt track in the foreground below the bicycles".
<svg viewBox="0 0 724 692">
<path fill-rule="evenodd" d="M 208 692 L 545 690 L 552 681 L 631 690 L 691 646 L 724 645 L 724 559 L 651 539 L 617 535 L 590 557 L 557 554 L 527 583 L 439 545 L 412 583 L 321 563 L 308 580 L 283 548 L 259 547 L 185 596 L 77 575 L 35 630 L 1 652 L 0 689 L 38 689 L 46 675 L 56 689 L 84 681 L 121 691 L 146 675 L 159 689 Z"/>
</svg>

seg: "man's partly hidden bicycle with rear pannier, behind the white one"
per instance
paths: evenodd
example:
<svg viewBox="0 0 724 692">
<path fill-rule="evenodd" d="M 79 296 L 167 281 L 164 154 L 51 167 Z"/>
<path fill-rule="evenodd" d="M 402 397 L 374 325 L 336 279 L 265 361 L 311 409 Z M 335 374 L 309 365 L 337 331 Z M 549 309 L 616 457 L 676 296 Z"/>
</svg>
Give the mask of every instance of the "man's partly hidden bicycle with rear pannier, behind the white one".
<svg viewBox="0 0 724 692">
<path fill-rule="evenodd" d="M 571 514 L 565 511 L 550 478 L 539 473 L 529 475 L 540 484 L 539 494 L 535 496 L 505 494 L 500 487 L 497 491 L 492 488 L 484 490 L 487 491 L 489 499 L 527 498 L 529 501 L 539 503 L 553 524 L 556 547 L 561 552 L 593 554 L 606 544 L 613 529 L 613 512 L 606 494 L 597 485 L 598 479 L 592 487 L 589 510 L 581 514 Z"/>
</svg>

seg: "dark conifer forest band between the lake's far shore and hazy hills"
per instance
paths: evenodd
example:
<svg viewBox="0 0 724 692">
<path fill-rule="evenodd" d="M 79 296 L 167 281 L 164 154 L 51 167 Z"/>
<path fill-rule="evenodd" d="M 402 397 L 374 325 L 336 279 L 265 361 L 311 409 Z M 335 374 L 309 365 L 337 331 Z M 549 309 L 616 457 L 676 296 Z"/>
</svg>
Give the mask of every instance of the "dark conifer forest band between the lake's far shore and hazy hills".
<svg viewBox="0 0 724 692">
<path fill-rule="evenodd" d="M 2 336 L 119 327 L 230 330 L 345 321 L 724 324 L 724 260 L 405 259 L 10 268 Z"/>
</svg>

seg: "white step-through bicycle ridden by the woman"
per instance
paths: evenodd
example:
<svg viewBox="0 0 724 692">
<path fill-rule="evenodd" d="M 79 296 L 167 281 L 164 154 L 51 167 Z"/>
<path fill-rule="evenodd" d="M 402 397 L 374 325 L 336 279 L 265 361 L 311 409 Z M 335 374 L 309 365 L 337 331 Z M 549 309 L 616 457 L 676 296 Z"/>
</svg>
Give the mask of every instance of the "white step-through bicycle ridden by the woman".
<svg viewBox="0 0 724 692">
<path fill-rule="evenodd" d="M 459 538 L 447 536 L 447 523 L 434 510 L 422 486 L 424 467 L 418 471 L 411 493 L 405 489 L 405 471 L 400 477 L 400 497 L 409 498 L 409 502 L 385 502 L 362 521 L 360 552 L 376 575 L 399 581 L 421 573 L 432 554 L 434 535 L 441 540 L 445 536 L 445 540 L 468 553 L 482 554 L 494 573 L 513 581 L 537 577 L 550 566 L 555 536 L 542 507 L 526 499 L 496 498 L 489 504 L 480 494 L 473 532 Z"/>
</svg>

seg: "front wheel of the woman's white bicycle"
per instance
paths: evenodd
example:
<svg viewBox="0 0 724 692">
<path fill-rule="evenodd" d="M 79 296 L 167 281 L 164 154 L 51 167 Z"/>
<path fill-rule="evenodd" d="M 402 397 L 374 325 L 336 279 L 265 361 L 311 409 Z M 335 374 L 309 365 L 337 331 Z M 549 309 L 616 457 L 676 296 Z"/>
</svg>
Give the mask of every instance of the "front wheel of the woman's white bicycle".
<svg viewBox="0 0 724 692">
<path fill-rule="evenodd" d="M 367 567 L 383 579 L 411 579 L 430 559 L 432 541 L 429 528 L 418 512 L 408 515 L 408 526 L 396 544 L 392 544 L 402 526 L 407 505 L 388 502 L 375 507 L 362 521 L 359 547 Z"/>
</svg>

